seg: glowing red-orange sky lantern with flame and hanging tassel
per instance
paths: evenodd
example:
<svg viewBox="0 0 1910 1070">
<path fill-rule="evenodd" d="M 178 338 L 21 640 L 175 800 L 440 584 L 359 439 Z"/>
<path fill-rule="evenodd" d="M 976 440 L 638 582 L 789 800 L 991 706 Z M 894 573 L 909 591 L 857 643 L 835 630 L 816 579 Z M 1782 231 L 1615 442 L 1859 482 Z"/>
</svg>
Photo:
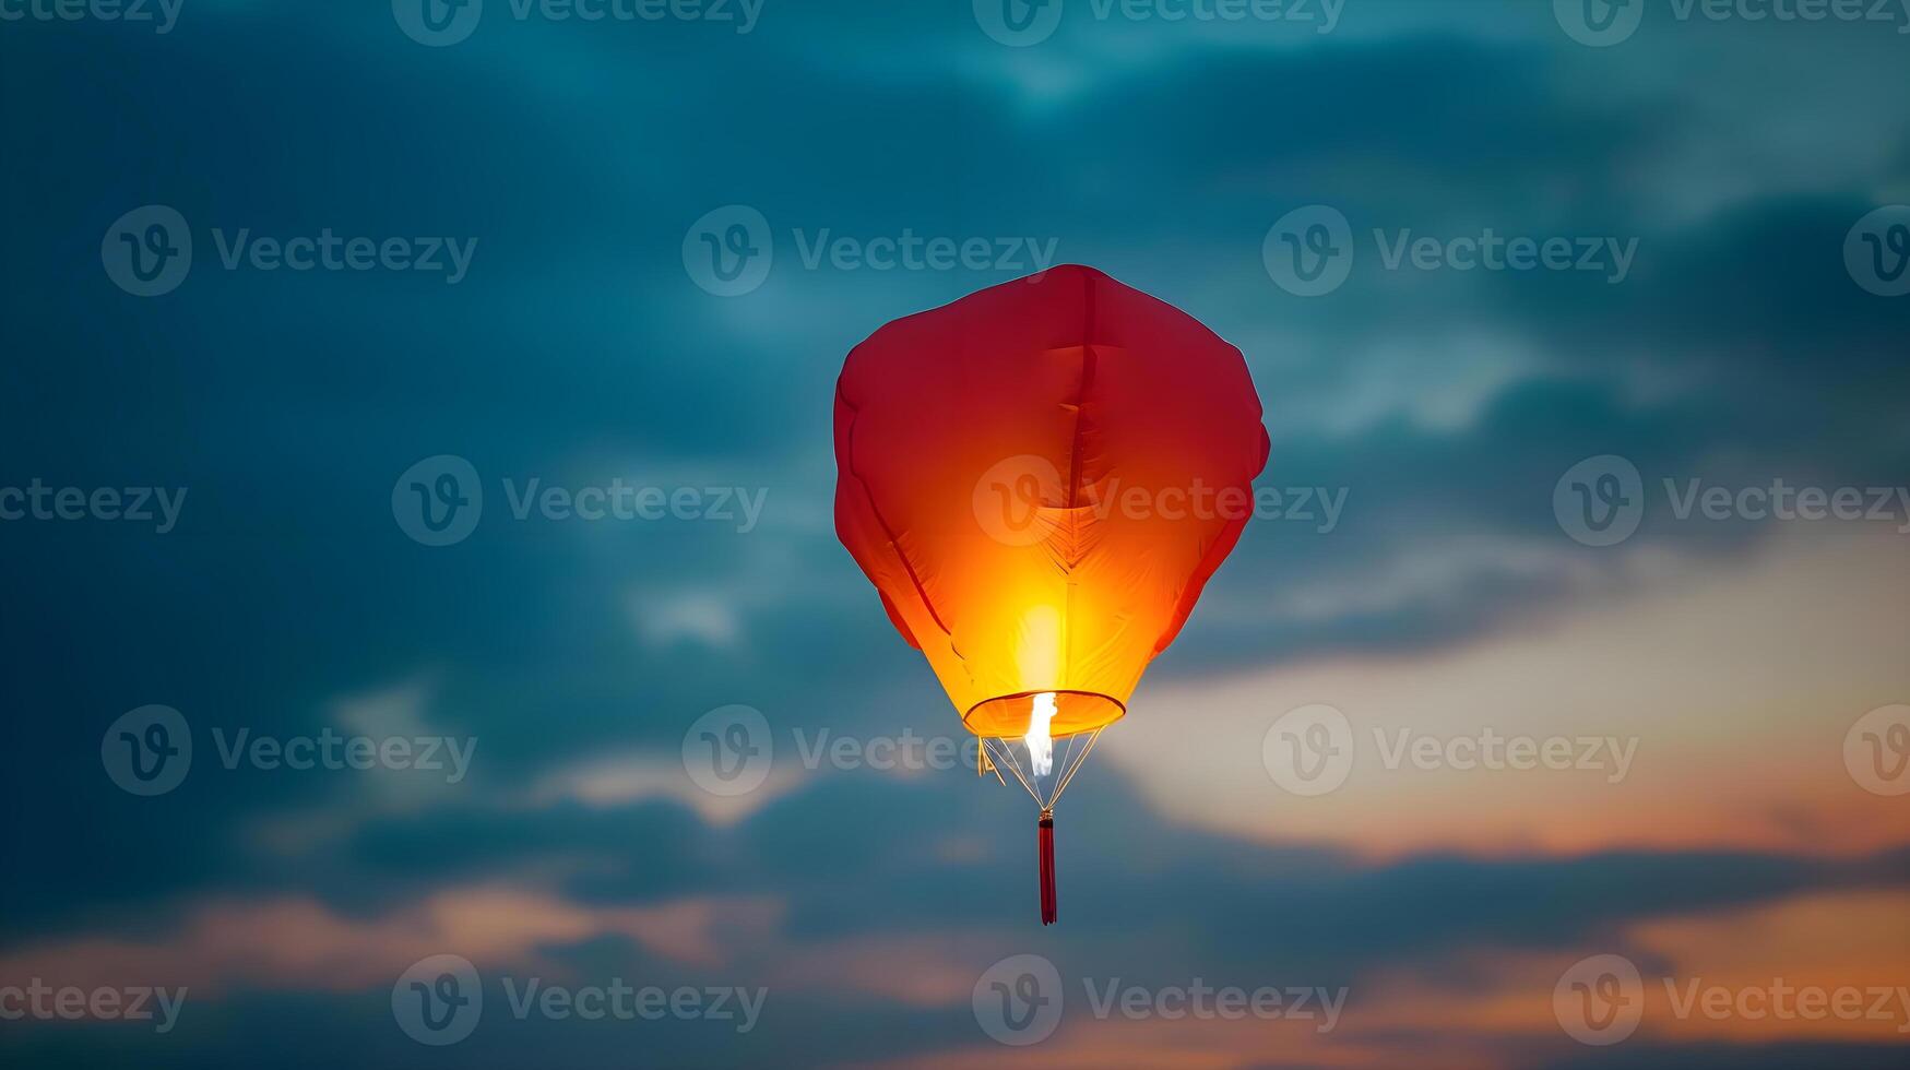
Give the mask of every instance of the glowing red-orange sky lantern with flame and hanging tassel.
<svg viewBox="0 0 1910 1070">
<path fill-rule="evenodd" d="M 837 533 L 982 739 L 1054 802 L 1167 650 L 1266 464 L 1240 350 L 1093 268 L 888 323 L 837 382 Z M 1003 780 L 1003 783 L 1007 783 Z"/>
</svg>

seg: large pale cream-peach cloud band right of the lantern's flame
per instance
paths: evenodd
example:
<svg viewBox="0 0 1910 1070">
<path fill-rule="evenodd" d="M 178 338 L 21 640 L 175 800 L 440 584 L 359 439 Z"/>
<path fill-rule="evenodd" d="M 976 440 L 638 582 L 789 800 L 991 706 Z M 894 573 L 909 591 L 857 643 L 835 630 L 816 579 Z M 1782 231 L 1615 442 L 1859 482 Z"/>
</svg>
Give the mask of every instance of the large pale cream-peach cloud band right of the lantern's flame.
<svg viewBox="0 0 1910 1070">
<path fill-rule="evenodd" d="M 1910 818 L 1857 787 L 1841 747 L 1851 722 L 1906 686 L 1906 552 L 1889 529 L 1795 527 L 1732 566 L 1683 560 L 1643 585 L 1581 587 L 1568 606 L 1438 653 L 1150 684 L 1096 760 L 1131 774 L 1175 822 L 1368 856 L 1876 850 L 1910 837 Z M 1350 778 L 1318 799 L 1282 791 L 1263 764 L 1268 728 L 1308 703 L 1337 707 L 1354 732 Z M 1390 770 L 1373 736 L 1442 741 L 1488 728 L 1635 739 L 1635 764 L 1618 783 L 1616 760 Z"/>
</svg>

